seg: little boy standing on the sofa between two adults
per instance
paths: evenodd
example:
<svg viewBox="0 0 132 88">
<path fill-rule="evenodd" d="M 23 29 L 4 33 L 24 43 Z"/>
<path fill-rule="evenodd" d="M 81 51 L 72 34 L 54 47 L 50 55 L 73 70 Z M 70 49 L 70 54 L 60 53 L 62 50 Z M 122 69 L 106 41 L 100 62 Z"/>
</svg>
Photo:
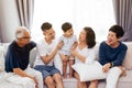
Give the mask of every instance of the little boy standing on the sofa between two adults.
<svg viewBox="0 0 132 88">
<path fill-rule="evenodd" d="M 59 37 L 59 41 L 63 41 L 64 45 L 59 51 L 59 56 L 63 62 L 63 76 L 64 78 L 67 78 L 66 70 L 68 63 L 69 63 L 69 77 L 73 77 L 72 65 L 74 64 L 74 57 L 70 55 L 70 50 L 77 46 L 77 38 L 76 35 L 74 35 L 73 26 L 70 23 L 65 22 L 62 25 L 62 30 L 64 34 Z"/>
</svg>

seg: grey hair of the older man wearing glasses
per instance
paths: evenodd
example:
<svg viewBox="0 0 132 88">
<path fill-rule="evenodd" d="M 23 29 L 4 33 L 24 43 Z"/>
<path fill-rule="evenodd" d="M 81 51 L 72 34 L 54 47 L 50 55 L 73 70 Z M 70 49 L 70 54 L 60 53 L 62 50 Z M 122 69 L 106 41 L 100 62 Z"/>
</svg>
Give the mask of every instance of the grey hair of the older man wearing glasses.
<svg viewBox="0 0 132 88">
<path fill-rule="evenodd" d="M 16 31 L 15 31 L 15 38 L 18 40 L 18 38 L 23 37 L 25 31 L 30 33 L 30 31 L 28 30 L 28 28 L 25 28 L 25 26 L 18 26 Z"/>
</svg>

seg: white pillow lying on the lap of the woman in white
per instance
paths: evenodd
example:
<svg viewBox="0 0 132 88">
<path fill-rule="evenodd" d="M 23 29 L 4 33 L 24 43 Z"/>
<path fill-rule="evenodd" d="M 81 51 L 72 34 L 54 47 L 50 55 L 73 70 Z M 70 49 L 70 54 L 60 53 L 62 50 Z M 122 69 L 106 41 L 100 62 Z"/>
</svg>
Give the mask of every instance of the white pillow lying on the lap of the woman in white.
<svg viewBox="0 0 132 88">
<path fill-rule="evenodd" d="M 94 64 L 75 64 L 72 66 L 80 77 L 80 81 L 89 81 L 95 79 L 105 79 L 107 74 L 102 72 L 102 66 L 98 62 Z"/>
</svg>

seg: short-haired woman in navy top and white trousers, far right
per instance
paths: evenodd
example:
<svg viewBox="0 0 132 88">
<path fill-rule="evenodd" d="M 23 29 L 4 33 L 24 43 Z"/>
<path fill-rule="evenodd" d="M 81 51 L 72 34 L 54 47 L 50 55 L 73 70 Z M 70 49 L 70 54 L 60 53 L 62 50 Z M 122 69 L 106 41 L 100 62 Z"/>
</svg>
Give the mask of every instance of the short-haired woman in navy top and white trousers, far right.
<svg viewBox="0 0 132 88">
<path fill-rule="evenodd" d="M 99 47 L 99 63 L 103 66 L 102 72 L 108 73 L 106 88 L 117 88 L 118 78 L 124 72 L 122 63 L 128 47 L 120 42 L 123 34 L 122 26 L 111 26 L 108 40 L 103 41 Z"/>
</svg>

